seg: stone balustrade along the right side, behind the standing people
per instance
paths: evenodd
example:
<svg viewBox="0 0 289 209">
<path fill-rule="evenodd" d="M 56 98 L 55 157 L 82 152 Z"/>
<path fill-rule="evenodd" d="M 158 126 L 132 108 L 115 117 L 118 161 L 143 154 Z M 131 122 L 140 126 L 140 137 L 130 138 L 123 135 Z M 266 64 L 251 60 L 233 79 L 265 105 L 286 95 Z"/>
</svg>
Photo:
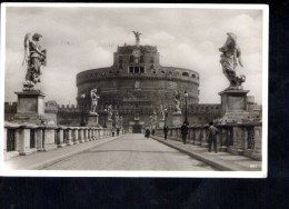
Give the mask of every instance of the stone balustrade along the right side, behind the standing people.
<svg viewBox="0 0 289 209">
<path fill-rule="evenodd" d="M 261 122 L 218 125 L 216 127 L 219 129 L 219 135 L 217 135 L 219 151 L 228 151 L 232 155 L 243 155 L 256 160 L 261 160 Z M 208 125 L 189 127 L 187 142 L 207 148 L 209 145 L 208 128 Z M 163 130 L 156 129 L 155 135 L 163 137 Z M 181 141 L 180 127 L 169 128 L 168 138 Z"/>
</svg>

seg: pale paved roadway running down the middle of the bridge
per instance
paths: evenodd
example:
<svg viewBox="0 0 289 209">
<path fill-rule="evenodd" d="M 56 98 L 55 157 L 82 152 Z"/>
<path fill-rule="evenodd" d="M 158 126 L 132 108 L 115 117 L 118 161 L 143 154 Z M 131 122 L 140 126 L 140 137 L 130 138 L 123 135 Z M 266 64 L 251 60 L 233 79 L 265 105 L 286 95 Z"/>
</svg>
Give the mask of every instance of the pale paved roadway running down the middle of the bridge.
<svg viewBox="0 0 289 209">
<path fill-rule="evenodd" d="M 143 135 L 124 135 L 44 170 L 215 170 L 203 162 Z"/>
</svg>

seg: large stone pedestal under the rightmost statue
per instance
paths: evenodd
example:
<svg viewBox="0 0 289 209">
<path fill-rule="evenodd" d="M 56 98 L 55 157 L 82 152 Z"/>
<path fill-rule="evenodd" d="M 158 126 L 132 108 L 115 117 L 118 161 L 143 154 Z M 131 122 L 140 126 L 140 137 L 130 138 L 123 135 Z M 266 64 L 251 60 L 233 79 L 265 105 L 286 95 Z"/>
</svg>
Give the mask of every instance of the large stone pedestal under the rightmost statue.
<svg viewBox="0 0 289 209">
<path fill-rule="evenodd" d="M 247 93 L 249 90 L 225 90 L 221 96 L 221 123 L 245 122 L 249 119 Z"/>
</svg>

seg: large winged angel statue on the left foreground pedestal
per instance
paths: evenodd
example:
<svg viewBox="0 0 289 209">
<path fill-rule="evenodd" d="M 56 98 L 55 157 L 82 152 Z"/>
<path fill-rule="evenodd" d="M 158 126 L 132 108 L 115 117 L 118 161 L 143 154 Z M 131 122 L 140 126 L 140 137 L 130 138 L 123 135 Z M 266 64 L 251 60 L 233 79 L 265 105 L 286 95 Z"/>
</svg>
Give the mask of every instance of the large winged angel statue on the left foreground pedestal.
<svg viewBox="0 0 289 209">
<path fill-rule="evenodd" d="M 41 66 L 46 66 L 47 50 L 41 50 L 39 44 L 41 34 L 28 32 L 24 37 L 24 59 L 22 66 L 27 63 L 26 81 L 23 90 L 33 90 L 37 82 L 40 82 Z"/>
</svg>

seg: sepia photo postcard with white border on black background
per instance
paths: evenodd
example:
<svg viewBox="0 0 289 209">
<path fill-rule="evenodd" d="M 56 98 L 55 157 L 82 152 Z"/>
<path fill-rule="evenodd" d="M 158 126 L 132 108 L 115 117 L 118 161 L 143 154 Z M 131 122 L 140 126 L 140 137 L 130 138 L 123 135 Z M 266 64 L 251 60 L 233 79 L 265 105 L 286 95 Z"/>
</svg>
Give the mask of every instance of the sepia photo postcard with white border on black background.
<svg viewBox="0 0 289 209">
<path fill-rule="evenodd" d="M 266 178 L 261 4 L 1 6 L 1 176 Z"/>
</svg>

